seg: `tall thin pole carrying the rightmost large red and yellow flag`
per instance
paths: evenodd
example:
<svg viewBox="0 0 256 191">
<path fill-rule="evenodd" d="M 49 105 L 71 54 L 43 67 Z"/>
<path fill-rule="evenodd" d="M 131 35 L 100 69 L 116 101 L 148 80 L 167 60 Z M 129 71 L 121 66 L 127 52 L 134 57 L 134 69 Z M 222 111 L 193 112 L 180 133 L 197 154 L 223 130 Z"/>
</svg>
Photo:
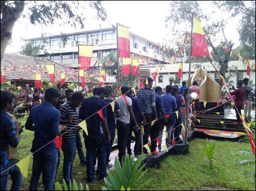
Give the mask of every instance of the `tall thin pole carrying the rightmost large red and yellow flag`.
<svg viewBox="0 0 256 191">
<path fill-rule="evenodd" d="M 194 14 L 191 15 L 190 65 L 189 65 L 189 71 L 188 71 L 188 94 L 187 94 L 187 97 L 186 97 L 186 100 L 187 100 L 187 114 L 186 114 L 185 144 L 187 144 L 188 113 L 189 113 L 188 105 L 190 105 L 189 97 L 190 97 L 190 84 L 191 84 L 190 73 L 191 73 L 192 39 L 193 39 L 192 38 L 193 37 L 193 18 L 194 18 Z"/>
</svg>

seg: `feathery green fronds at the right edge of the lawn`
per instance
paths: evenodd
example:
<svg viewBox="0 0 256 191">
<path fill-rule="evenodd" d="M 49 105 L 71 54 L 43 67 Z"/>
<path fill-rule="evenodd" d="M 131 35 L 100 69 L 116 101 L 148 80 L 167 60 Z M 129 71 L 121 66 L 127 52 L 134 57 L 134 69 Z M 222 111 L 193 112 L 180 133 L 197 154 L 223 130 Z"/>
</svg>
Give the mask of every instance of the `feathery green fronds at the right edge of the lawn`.
<svg viewBox="0 0 256 191">
<path fill-rule="evenodd" d="M 254 156 L 251 152 L 247 152 L 247 151 L 239 151 L 238 153 Z M 244 176 L 246 179 L 254 178 L 254 180 L 255 180 L 255 156 L 254 156 L 254 159 L 241 160 L 241 161 L 237 162 L 237 166 L 241 166 L 244 169 L 249 166 L 249 169 L 248 168 L 245 169 Z M 252 169 L 254 169 L 254 170 L 252 170 Z"/>
</svg>

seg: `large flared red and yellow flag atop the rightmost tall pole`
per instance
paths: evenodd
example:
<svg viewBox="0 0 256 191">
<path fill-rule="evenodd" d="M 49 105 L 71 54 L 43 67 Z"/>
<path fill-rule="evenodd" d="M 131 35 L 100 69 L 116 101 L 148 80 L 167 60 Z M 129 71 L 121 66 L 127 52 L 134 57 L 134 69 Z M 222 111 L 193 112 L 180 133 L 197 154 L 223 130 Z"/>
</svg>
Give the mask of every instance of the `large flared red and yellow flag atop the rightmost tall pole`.
<svg viewBox="0 0 256 191">
<path fill-rule="evenodd" d="M 206 36 L 204 34 L 201 20 L 194 16 L 194 34 L 191 56 L 208 56 L 209 51 L 206 44 Z"/>
</svg>

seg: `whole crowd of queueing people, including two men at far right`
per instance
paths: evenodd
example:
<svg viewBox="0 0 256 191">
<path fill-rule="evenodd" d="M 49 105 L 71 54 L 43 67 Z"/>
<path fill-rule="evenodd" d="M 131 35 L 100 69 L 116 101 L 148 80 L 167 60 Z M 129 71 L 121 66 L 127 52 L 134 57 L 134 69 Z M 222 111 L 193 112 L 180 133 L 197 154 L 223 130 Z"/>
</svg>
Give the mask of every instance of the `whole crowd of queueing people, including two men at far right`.
<svg viewBox="0 0 256 191">
<path fill-rule="evenodd" d="M 238 82 L 238 89 L 231 92 L 231 95 L 235 95 L 237 113 L 241 113 L 240 103 L 242 102 L 243 105 L 245 97 L 248 103 L 247 109 L 245 107 L 245 117 L 250 117 L 251 88 L 246 79 L 243 83 Z M 115 92 L 104 87 L 93 88 L 92 96 L 88 96 L 86 91 L 74 92 L 68 89 L 64 92 L 65 100 L 60 100 L 60 97 L 64 96 L 57 88 L 48 88 L 45 92 L 35 90 L 33 95 L 31 88 L 28 86 L 24 88 L 22 91 L 25 95 L 30 95 L 33 100 L 39 102 L 35 107 L 30 108 L 25 124 L 27 130 L 35 132 L 30 150 L 33 153 L 33 167 L 29 189 L 37 190 L 41 173 L 45 190 L 53 189 L 60 164 L 60 151 L 53 141 L 58 135 L 62 135 L 61 150 L 64 155 L 62 170 L 68 188 L 69 182 L 73 181 L 72 168 L 76 149 L 81 164 L 86 165 L 88 182 L 95 180 L 96 158 L 98 161 L 96 174 L 99 174 L 100 179 L 107 176 L 107 168 L 112 166 L 109 164 L 109 157 L 116 137 L 116 129 L 120 163 L 123 162 L 126 149 L 128 155 L 132 155 L 132 132 L 135 135 L 133 149 L 135 157 L 139 157 L 141 153 L 149 155 L 146 148 L 143 147 L 141 150 L 141 145 L 149 143 L 149 137 L 151 155 L 158 155 L 157 147 L 161 148 L 163 143 L 164 126 L 166 126 L 167 146 L 172 144 L 172 140 L 175 140 L 175 143 L 182 143 L 179 137 L 182 134 L 180 124 L 185 123 L 184 107 L 191 104 L 191 98 L 187 99 L 190 94 L 186 82 L 183 81 L 182 87 L 179 87 L 170 80 L 166 92 L 158 86 L 152 90 L 152 84 L 153 79 L 147 78 L 144 80 L 145 87 L 137 91 L 137 94 L 130 87 L 123 86 L 119 97 L 113 97 L 116 95 Z M 196 100 L 199 100 L 200 88 L 196 81 L 190 87 L 191 92 L 196 92 Z M 17 145 L 23 126 L 20 126 L 21 124 L 12 115 L 14 104 L 14 95 L 9 91 L 1 91 L 1 190 L 6 190 L 9 174 L 13 180 L 11 189 L 19 190 L 23 183 L 22 174 L 15 165 L 19 161 Z M 86 157 L 82 151 L 79 133 L 81 128 L 78 126 L 84 120 L 88 131 L 83 132 Z M 140 128 L 143 128 L 142 143 Z"/>
</svg>

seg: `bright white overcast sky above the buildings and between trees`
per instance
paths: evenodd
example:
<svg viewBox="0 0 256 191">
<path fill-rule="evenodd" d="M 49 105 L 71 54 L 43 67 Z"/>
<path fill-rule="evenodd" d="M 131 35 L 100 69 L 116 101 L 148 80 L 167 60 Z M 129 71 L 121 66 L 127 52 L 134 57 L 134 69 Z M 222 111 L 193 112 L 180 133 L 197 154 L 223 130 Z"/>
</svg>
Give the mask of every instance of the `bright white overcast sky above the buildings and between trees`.
<svg viewBox="0 0 256 191">
<path fill-rule="evenodd" d="M 207 7 L 207 11 L 211 11 L 211 7 Z M 168 15 L 168 9 L 170 8 L 169 1 L 103 1 L 103 6 L 107 11 L 107 21 L 101 22 L 95 19 L 93 10 L 87 10 L 87 18 L 85 23 L 85 29 L 72 29 L 72 27 L 59 27 L 56 21 L 54 26 L 43 25 L 31 25 L 28 19 L 20 18 L 14 26 L 13 38 L 10 45 L 7 46 L 6 52 L 18 52 L 21 50 L 21 46 L 25 44 L 22 39 L 37 38 L 40 37 L 42 32 L 46 32 L 46 35 L 58 35 L 60 32 L 76 32 L 83 30 L 103 29 L 110 27 L 111 24 L 116 25 L 116 22 L 125 26 L 129 26 L 130 31 L 140 35 L 155 43 L 166 43 L 164 38 L 168 33 L 166 29 L 165 18 Z M 27 10 L 24 11 L 26 13 Z M 79 10 L 81 11 L 81 10 Z M 84 11 L 82 11 L 84 13 Z M 222 17 L 227 19 L 229 24 L 225 28 L 225 33 L 228 39 L 232 39 L 235 42 L 234 47 L 239 46 L 239 36 L 237 32 L 237 26 L 239 20 L 235 18 L 227 18 L 226 15 L 216 14 L 216 17 Z M 203 23 L 206 25 L 207 23 Z M 218 45 L 220 40 L 223 39 L 221 35 L 218 36 L 214 45 Z"/>
</svg>

